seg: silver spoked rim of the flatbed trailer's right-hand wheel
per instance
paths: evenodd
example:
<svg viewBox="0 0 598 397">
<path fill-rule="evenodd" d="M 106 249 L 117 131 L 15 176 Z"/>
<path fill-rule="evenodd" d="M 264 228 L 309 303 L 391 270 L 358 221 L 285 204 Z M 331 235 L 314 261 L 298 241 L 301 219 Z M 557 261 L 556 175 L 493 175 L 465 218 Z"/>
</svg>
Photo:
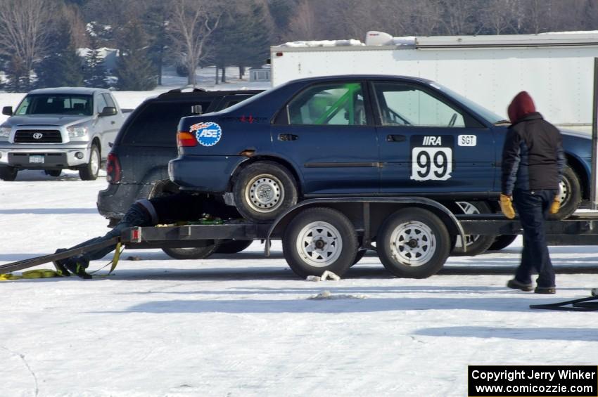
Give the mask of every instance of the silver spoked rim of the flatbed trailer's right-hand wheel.
<svg viewBox="0 0 598 397">
<path fill-rule="evenodd" d="M 390 234 L 390 252 L 403 265 L 423 266 L 436 252 L 436 237 L 426 223 L 407 221 Z"/>
</svg>

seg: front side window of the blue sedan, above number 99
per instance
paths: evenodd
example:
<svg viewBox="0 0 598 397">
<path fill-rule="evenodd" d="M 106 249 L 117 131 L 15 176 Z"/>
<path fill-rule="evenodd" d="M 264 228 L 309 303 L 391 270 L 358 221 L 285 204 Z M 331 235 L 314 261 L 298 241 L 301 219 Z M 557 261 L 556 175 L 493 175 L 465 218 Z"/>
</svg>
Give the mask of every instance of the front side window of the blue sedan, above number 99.
<svg viewBox="0 0 598 397">
<path fill-rule="evenodd" d="M 465 127 L 461 110 L 412 84 L 374 82 L 382 125 Z"/>
</svg>

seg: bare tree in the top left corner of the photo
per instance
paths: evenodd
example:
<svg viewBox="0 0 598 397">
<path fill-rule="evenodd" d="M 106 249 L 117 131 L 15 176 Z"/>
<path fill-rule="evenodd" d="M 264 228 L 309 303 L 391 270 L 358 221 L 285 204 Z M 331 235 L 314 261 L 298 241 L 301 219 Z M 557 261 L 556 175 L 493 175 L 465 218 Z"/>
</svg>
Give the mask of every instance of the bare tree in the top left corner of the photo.
<svg viewBox="0 0 598 397">
<path fill-rule="evenodd" d="M 44 0 L 0 0 L 0 53 L 20 65 L 25 86 L 46 50 L 53 8 Z"/>
</svg>

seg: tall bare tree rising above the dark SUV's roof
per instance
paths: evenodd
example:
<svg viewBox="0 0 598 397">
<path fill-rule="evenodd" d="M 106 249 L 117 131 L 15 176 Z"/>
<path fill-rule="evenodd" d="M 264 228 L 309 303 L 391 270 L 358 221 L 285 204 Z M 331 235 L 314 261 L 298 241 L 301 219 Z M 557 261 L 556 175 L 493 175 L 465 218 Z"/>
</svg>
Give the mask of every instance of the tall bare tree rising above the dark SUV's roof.
<svg viewBox="0 0 598 397">
<path fill-rule="evenodd" d="M 188 72 L 187 82 L 196 86 L 195 71 L 205 58 L 205 43 L 218 27 L 222 9 L 209 0 L 174 0 L 169 24 L 174 49 L 182 56 Z"/>
</svg>

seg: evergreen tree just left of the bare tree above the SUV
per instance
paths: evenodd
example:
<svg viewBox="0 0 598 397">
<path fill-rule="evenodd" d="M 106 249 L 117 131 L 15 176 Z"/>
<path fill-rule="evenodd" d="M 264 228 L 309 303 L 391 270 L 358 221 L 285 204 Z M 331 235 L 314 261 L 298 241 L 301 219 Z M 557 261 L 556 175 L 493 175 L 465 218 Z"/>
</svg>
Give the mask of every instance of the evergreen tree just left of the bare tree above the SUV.
<svg viewBox="0 0 598 397">
<path fill-rule="evenodd" d="M 125 48 L 116 62 L 117 87 L 124 91 L 148 91 L 156 86 L 155 68 L 148 57 L 146 37 L 139 21 L 132 20 L 123 32 Z"/>
</svg>

